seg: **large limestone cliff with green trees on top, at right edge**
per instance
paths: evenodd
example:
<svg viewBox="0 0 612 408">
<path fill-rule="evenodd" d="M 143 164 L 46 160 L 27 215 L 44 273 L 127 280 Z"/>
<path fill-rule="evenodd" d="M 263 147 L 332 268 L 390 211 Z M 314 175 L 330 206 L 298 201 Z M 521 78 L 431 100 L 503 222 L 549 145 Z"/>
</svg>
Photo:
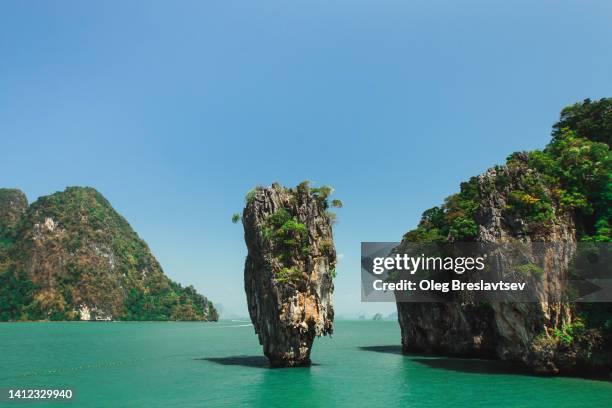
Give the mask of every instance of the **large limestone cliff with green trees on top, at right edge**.
<svg viewBox="0 0 612 408">
<path fill-rule="evenodd" d="M 398 302 L 404 352 L 500 358 L 542 374 L 612 369 L 610 306 L 563 301 L 577 242 L 611 240 L 612 161 L 601 142 L 612 133 L 611 102 L 597 102 L 595 118 L 590 101 L 564 110 L 544 151 L 513 154 L 463 183 L 404 236 L 400 251 L 411 242 L 555 243 L 540 254 L 535 302 L 471 302 L 465 293 L 445 303 Z M 572 123 L 597 133 L 566 126 Z M 489 255 L 501 269 L 511 261 L 502 250 Z"/>
</svg>

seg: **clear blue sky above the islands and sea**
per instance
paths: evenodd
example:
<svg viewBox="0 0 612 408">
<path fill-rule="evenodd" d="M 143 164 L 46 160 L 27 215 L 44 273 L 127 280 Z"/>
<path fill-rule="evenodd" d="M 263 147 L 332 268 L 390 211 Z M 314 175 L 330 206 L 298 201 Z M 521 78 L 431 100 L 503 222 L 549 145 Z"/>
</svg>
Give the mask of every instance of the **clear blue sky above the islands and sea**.
<svg viewBox="0 0 612 408">
<path fill-rule="evenodd" d="M 360 242 L 612 96 L 609 1 L 0 2 L 0 186 L 92 186 L 166 274 L 246 316 L 253 186 L 335 188 L 336 314 Z"/>
</svg>

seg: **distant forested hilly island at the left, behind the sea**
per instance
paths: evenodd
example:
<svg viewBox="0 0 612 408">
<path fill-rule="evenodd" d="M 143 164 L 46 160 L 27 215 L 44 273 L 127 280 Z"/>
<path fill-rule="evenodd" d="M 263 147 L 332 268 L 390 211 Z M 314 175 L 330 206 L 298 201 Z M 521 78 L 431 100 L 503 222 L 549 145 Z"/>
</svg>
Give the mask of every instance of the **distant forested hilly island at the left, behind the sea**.
<svg viewBox="0 0 612 408">
<path fill-rule="evenodd" d="M 0 189 L 0 321 L 217 319 L 95 189 Z"/>
</svg>

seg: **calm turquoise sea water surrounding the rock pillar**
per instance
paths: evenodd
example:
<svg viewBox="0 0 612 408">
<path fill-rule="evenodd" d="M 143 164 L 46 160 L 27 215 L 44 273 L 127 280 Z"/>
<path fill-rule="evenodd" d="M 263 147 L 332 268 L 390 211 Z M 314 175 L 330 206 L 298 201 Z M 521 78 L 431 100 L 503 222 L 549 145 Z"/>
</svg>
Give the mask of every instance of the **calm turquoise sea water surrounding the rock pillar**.
<svg viewBox="0 0 612 408">
<path fill-rule="evenodd" d="M 315 365 L 269 369 L 248 322 L 5 323 L 0 387 L 74 389 L 63 407 L 612 406 L 609 381 L 403 356 L 398 343 L 397 322 L 340 321 L 315 341 Z"/>
</svg>

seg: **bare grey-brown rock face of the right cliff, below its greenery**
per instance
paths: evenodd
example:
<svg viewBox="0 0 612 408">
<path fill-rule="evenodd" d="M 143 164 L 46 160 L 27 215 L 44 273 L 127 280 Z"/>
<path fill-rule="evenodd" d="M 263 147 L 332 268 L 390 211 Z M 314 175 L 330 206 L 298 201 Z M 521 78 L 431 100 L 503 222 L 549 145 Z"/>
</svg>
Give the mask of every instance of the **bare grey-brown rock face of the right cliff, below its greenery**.
<svg viewBox="0 0 612 408">
<path fill-rule="evenodd" d="M 561 350 L 551 338 L 555 329 L 573 319 L 569 304 L 559 301 L 563 296 L 568 264 L 576 250 L 572 214 L 554 206 L 554 217 L 546 228 L 530 229 L 525 220 L 505 211 L 511 192 L 523 189 L 520 183 L 524 176 L 538 177 L 527 166 L 526 157 L 522 159 L 523 163 L 518 157 L 513 166 L 490 169 L 478 177 L 480 206 L 476 212 L 476 241 L 559 243 L 540 254 L 544 275 L 538 284 L 539 301 L 485 305 L 469 301 L 398 303 L 404 352 L 500 358 L 542 374 L 572 372 L 589 364 L 576 355 L 568 359 L 567 350 Z M 500 186 L 500 177 L 507 180 L 503 186 Z M 545 194 L 553 194 L 545 183 L 542 189 Z M 488 255 L 494 258 L 491 263 L 498 268 L 513 264 L 502 250 Z M 463 295 L 452 296 L 458 300 Z"/>
</svg>

